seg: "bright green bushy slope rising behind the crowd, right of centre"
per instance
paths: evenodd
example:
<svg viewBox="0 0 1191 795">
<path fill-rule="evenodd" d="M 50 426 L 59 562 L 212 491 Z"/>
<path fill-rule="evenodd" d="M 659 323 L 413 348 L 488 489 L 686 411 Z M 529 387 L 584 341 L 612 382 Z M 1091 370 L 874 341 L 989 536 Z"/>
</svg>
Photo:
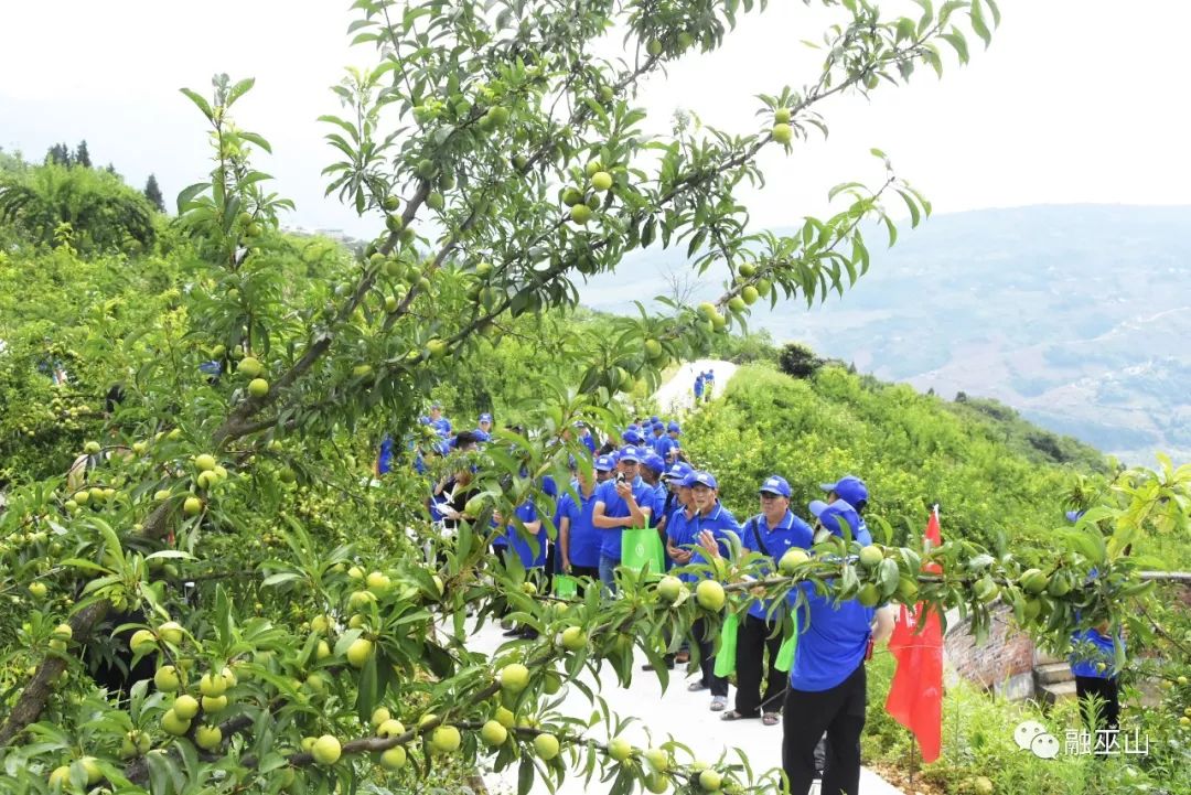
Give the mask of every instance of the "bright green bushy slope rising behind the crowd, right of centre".
<svg viewBox="0 0 1191 795">
<path fill-rule="evenodd" d="M 754 364 L 687 420 L 684 449 L 716 474 L 736 515 L 756 512 L 756 484 L 769 474 L 790 481 L 805 514 L 819 483 L 850 472 L 869 486 L 874 530 L 887 522 L 897 543 L 916 537 L 939 503 L 949 533 L 997 545 L 1045 538 L 1072 507 L 1075 474 L 1103 465 L 1087 450 L 1077 463 L 1045 463 L 1021 449 L 1015 422 L 840 367 L 796 380 Z"/>
</svg>

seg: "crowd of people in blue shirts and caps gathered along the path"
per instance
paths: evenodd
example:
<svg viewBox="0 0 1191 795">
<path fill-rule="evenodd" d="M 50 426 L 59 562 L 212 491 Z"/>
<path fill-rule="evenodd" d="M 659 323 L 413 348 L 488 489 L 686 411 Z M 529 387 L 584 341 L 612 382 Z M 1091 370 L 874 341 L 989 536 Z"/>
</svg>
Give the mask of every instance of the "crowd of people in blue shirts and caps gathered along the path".
<svg viewBox="0 0 1191 795">
<path fill-rule="evenodd" d="M 700 374 L 697 395 L 710 394 L 713 376 Z M 437 436 L 437 452 L 467 452 L 491 439 L 492 417 L 481 414 L 473 431 L 453 432 L 450 420 L 435 405 L 423 424 Z M 520 428 L 513 428 L 522 431 Z M 662 568 L 693 588 L 712 576 L 716 557 L 730 555 L 729 533 L 746 552 L 762 556 L 759 576 L 774 571 L 793 547 L 810 550 L 816 533 L 833 533 L 871 543 L 863 521 L 868 490 L 859 477 L 847 475 L 823 484 L 824 499 L 807 506 L 810 521 L 791 508 L 792 490 L 781 475 L 766 477 L 757 487 L 757 513 L 741 522 L 719 500 L 715 474 L 696 469 L 681 446 L 681 426 L 660 417 L 638 419 L 618 437 L 600 442 L 584 425 L 575 439 L 591 453 L 590 467 L 572 461 L 569 488 L 550 478 L 541 484 L 554 505 L 557 528 L 551 542 L 538 507 L 526 501 L 515 515 L 493 518 L 493 553 L 517 559 L 544 582 L 566 575 L 580 593 L 601 588 L 606 597 L 617 593 L 617 572 L 624 564 L 626 531 L 650 528 L 665 549 Z M 382 445 L 376 471 L 393 465 L 392 440 Z M 419 463 L 413 451 L 413 465 Z M 431 517 L 444 531 L 470 519 L 467 502 L 473 494 L 469 468 L 432 484 L 428 500 Z M 701 564 L 701 565 L 699 565 Z M 800 607 L 798 595 L 802 595 Z M 797 614 L 794 611 L 797 609 Z M 787 670 L 779 661 L 786 618 L 799 627 Z M 730 705 L 730 682 L 717 675 L 715 645 L 707 627 L 697 621 L 685 639 L 667 639 L 665 664 L 691 664 L 697 652 L 696 678 L 690 691 L 706 691 L 709 707 L 725 721 L 759 719 L 782 725 L 782 766 L 792 793 L 806 793 L 816 778 L 823 791 L 855 794 L 860 781 L 860 734 L 865 722 L 865 662 L 874 641 L 886 638 L 893 619 L 888 608 L 871 608 L 859 601 L 835 603 L 813 588 L 793 590 L 785 603 L 757 597 L 738 624 L 734 665 L 736 694 Z M 532 638 L 529 627 L 509 626 L 509 637 Z M 649 666 L 647 665 L 647 669 Z"/>
</svg>

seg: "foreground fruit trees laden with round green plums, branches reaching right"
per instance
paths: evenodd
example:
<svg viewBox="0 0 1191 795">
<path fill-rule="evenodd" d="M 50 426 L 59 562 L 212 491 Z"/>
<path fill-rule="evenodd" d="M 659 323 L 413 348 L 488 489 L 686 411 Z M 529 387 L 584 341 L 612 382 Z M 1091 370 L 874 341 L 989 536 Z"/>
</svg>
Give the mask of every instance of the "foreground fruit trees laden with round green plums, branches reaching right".
<svg viewBox="0 0 1191 795">
<path fill-rule="evenodd" d="M 292 205 L 258 170 L 270 146 L 236 123 L 251 80 L 185 90 L 212 144 L 210 175 L 182 190 L 169 226 L 187 264 L 146 262 L 156 283 L 144 296 L 105 282 L 86 346 L 62 353 L 94 388 L 79 426 L 89 438 L 26 427 L 29 457 L 4 470 L 0 790 L 397 791 L 486 760 L 517 766 L 523 793 L 574 769 L 615 795 L 778 791 L 773 771 L 693 759 L 663 738 L 634 747 L 615 716 L 590 724 L 551 699 L 584 688 L 585 672 L 628 682 L 635 651 L 657 664 L 672 651 L 663 638 L 698 619 L 717 627 L 725 605 L 744 609 L 756 594 L 740 578 L 756 555 L 703 566 L 716 577 L 698 589 L 625 570 L 613 600 L 596 588 L 562 600 L 491 553 L 500 531 L 488 520 L 545 500 L 542 478 L 568 482 L 572 457 L 590 470 L 574 422 L 623 427 L 622 393 L 656 386 L 757 301 L 843 292 L 868 268 L 863 231 L 880 223 L 896 238 L 888 202 L 915 225 L 929 213 L 885 161 L 880 184 L 843 182 L 838 212 L 793 237 L 746 229 L 737 189 L 762 179 L 763 150 L 825 133 L 836 96 L 966 62 L 999 20 L 992 0 L 922 2 L 913 18 L 865 0 L 822 5 L 838 21 L 821 39 L 821 71 L 798 87 L 748 76 L 762 82 L 742 89 L 762 93 L 738 129 L 654 137 L 637 87 L 719 48 L 763 0 L 357 0 L 345 21 L 376 65 L 350 70 L 335 87 L 342 109 L 324 117 L 328 193 L 378 233 L 350 253 L 279 233 Z M 611 35 L 621 57 L 594 57 Z M 621 318 L 593 349 L 543 353 L 575 377 L 543 378 L 534 432 L 498 432 L 442 464 L 475 467 L 474 521 L 432 532 L 412 472 L 361 483 L 376 428 L 420 433 L 431 389 L 479 368 L 524 319 L 574 309 L 578 284 L 632 250 L 678 245 L 697 271 L 731 267 L 721 298 Z M 44 256 L 82 270 L 68 242 Z M 10 358 L 29 342 L 10 339 Z M 110 383 L 123 393 L 100 415 Z M 956 539 L 878 545 L 848 563 L 859 550 L 829 539 L 750 586 L 777 597 L 813 581 L 841 597 L 958 606 L 978 627 L 999 597 L 1058 645 L 1079 626 L 1120 626 L 1146 597 L 1147 562 L 1125 551 L 1186 532 L 1189 481 L 1133 474 L 1046 549 Z M 923 575 L 928 559 L 943 574 Z M 1092 568 L 1097 587 L 1075 587 Z M 468 647 L 476 622 L 504 615 L 538 637 L 491 656 Z"/>
</svg>

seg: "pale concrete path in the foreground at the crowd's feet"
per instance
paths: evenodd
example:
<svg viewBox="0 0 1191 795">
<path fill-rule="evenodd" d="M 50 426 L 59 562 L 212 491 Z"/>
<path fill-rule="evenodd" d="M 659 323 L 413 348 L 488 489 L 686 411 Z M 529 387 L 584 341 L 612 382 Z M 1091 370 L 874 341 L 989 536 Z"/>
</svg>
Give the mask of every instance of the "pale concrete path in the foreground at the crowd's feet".
<svg viewBox="0 0 1191 795">
<path fill-rule="evenodd" d="M 718 375 L 718 373 L 717 373 Z M 500 636 L 497 625 L 487 625 L 479 633 L 472 637 L 468 644 L 476 651 L 486 653 L 494 652 L 505 638 Z M 687 678 L 678 666 L 671 676 L 669 688 L 662 693 L 656 675 L 641 670 L 641 665 L 647 661 L 641 652 L 637 652 L 637 662 L 634 666 L 632 684 L 622 688 L 616 675 L 606 669 L 603 674 L 603 682 L 597 683 L 591 675 L 586 675 L 584 682 L 596 689 L 600 686 L 600 695 L 607 701 L 613 714 L 625 718 L 632 715 L 637 719 L 631 727 L 624 732 L 625 739 L 638 747 L 648 747 L 651 744 L 661 743 L 674 738 L 679 743 L 688 746 L 697 758 L 706 762 L 715 762 L 722 753 L 728 755 L 728 759 L 736 762 L 737 751 L 748 756 L 755 774 L 771 770 L 781 765 L 781 725 L 765 726 L 760 720 L 740 720 L 724 722 L 719 719 L 721 713 L 709 709 L 711 696 L 703 693 L 688 693 L 686 686 L 694 678 Z M 729 706 L 735 699 L 735 689 L 729 694 Z M 563 714 L 586 716 L 592 714 L 592 705 L 587 697 L 576 688 L 567 688 L 566 700 L 559 708 Z M 647 731 L 648 730 L 648 731 Z M 653 741 L 650 741 L 650 735 Z M 607 732 L 603 726 L 592 730 L 592 737 L 598 740 L 606 740 Z M 486 771 L 484 782 L 493 795 L 515 795 L 517 793 L 517 766 L 504 770 L 500 774 Z M 592 780 L 591 788 L 584 787 L 581 777 L 568 777 L 557 795 L 588 795 L 607 791 L 610 784 L 599 784 L 599 777 Z M 532 793 L 547 793 L 548 789 L 541 781 L 535 783 Z M 813 795 L 815 790 L 812 790 Z M 871 770 L 860 771 L 860 795 L 903 795 L 899 789 L 888 784 Z"/>
</svg>

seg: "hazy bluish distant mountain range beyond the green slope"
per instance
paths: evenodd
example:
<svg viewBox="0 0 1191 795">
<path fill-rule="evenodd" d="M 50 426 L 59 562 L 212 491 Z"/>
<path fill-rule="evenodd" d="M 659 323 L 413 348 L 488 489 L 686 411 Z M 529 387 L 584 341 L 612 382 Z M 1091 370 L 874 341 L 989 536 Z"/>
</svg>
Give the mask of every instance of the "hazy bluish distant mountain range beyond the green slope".
<svg viewBox="0 0 1191 795">
<path fill-rule="evenodd" d="M 1191 461 L 1191 206 L 1035 206 L 936 215 L 842 299 L 754 325 L 942 396 L 994 398 L 1128 463 Z M 681 251 L 625 259 L 593 308 L 671 294 Z M 717 295 L 709 270 L 694 300 Z"/>
</svg>

